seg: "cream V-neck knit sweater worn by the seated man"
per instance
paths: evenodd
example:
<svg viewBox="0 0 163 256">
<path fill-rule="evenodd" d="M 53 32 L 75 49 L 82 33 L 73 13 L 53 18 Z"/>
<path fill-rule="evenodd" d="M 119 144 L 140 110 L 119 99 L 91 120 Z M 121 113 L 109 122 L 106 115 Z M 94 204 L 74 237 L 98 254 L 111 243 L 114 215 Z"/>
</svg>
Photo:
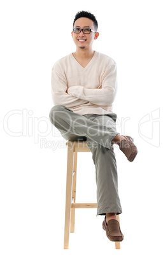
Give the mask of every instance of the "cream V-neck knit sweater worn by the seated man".
<svg viewBox="0 0 163 256">
<path fill-rule="evenodd" d="M 102 89 L 98 89 L 101 85 Z M 52 68 L 53 104 L 64 105 L 80 115 L 113 113 L 116 92 L 117 65 L 103 53 L 95 52 L 85 68 L 72 53 L 57 60 Z"/>
</svg>

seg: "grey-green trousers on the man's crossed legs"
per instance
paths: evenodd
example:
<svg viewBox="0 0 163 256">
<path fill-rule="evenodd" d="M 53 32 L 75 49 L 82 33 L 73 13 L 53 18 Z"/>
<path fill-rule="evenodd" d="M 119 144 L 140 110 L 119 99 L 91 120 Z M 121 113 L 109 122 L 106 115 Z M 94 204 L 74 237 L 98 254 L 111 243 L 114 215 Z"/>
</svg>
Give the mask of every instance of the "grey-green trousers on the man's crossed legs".
<svg viewBox="0 0 163 256">
<path fill-rule="evenodd" d="M 122 213 L 118 196 L 118 174 L 112 139 L 118 134 L 117 115 L 79 115 L 66 106 L 50 110 L 50 122 L 69 141 L 87 141 L 96 168 L 97 215 Z"/>
</svg>

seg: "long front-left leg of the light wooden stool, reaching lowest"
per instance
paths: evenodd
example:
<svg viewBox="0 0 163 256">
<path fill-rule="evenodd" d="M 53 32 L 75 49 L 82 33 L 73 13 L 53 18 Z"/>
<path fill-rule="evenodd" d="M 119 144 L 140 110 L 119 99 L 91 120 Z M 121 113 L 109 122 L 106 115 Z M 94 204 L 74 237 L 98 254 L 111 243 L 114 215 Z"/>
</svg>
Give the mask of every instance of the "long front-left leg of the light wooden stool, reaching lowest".
<svg viewBox="0 0 163 256">
<path fill-rule="evenodd" d="M 72 183 L 73 183 L 73 155 L 74 147 L 67 148 L 67 181 L 66 181 L 66 209 L 64 224 L 64 249 L 69 248 L 69 226 L 71 216 L 71 199 L 72 199 Z"/>
</svg>

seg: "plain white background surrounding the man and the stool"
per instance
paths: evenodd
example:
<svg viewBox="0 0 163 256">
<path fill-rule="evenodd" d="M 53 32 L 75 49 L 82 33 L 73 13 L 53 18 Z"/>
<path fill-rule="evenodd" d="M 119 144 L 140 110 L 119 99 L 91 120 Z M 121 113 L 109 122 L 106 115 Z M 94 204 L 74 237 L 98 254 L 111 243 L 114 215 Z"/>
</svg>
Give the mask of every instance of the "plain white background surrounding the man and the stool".
<svg viewBox="0 0 163 256">
<path fill-rule="evenodd" d="M 162 1 L 3 1 L 1 18 L 1 255 L 138 255 L 161 252 Z M 99 23 L 94 50 L 118 66 L 117 131 L 138 156 L 115 148 L 122 204 L 121 251 L 106 238 L 96 209 L 76 210 L 63 250 L 66 141 L 50 124 L 51 69 L 74 52 L 77 11 Z M 64 28 L 64 32 L 63 32 Z M 62 31 L 62 32 L 61 32 Z M 58 143 L 58 144 L 57 144 Z M 80 153 L 76 199 L 96 202 L 91 153 Z"/>
</svg>

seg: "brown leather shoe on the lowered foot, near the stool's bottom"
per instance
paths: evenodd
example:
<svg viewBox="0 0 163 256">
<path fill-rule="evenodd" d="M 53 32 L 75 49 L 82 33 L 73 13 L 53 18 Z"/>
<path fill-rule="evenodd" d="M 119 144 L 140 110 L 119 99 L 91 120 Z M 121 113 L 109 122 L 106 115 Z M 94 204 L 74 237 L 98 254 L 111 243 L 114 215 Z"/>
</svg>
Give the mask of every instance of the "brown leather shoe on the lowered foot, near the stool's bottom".
<svg viewBox="0 0 163 256">
<path fill-rule="evenodd" d="M 113 242 L 121 242 L 124 240 L 124 235 L 120 230 L 120 224 L 118 220 L 111 219 L 106 223 L 106 217 L 103 221 L 103 229 L 106 231 L 106 236 Z"/>
</svg>

